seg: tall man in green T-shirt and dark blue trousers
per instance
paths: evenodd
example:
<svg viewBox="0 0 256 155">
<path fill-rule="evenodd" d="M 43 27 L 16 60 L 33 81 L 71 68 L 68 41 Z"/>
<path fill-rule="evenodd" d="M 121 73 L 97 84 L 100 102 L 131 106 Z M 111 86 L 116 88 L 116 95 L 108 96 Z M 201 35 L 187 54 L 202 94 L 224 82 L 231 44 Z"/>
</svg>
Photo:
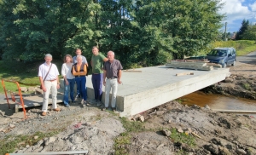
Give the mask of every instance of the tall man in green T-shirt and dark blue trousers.
<svg viewBox="0 0 256 155">
<path fill-rule="evenodd" d="M 103 62 L 108 59 L 99 53 L 99 49 L 94 46 L 92 47 L 92 56 L 90 60 L 90 65 L 92 66 L 91 83 L 94 89 L 94 100 L 96 101 L 96 106 L 101 106 L 102 100 L 102 83 L 103 83 Z"/>
</svg>

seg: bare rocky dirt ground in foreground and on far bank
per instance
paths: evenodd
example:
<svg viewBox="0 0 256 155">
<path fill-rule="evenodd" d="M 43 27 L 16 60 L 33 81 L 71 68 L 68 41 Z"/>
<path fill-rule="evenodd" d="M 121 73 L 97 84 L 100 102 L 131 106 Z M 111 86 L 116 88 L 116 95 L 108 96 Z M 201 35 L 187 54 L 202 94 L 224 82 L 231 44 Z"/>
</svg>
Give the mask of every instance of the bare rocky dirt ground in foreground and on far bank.
<svg viewBox="0 0 256 155">
<path fill-rule="evenodd" d="M 255 99 L 256 60 L 246 60 L 238 60 L 236 66 L 230 66 L 230 78 L 205 91 Z M 15 152 L 256 154 L 256 118 L 250 115 L 213 112 L 209 106 L 186 106 L 173 100 L 133 116 L 127 128 L 117 113 L 102 112 L 94 105 L 83 107 L 79 102 L 68 108 L 60 104 L 61 112 L 54 112 L 49 106 L 46 117 L 40 115 L 41 107 L 31 108 L 27 110 L 29 118 L 22 119 L 23 113 L 9 110 L 3 98 L 0 95 L 1 142 L 8 144 L 18 135 L 33 135 L 32 139 L 36 140 L 38 131 L 58 131 L 31 145 L 20 143 Z M 145 119 L 143 123 L 139 117 Z"/>
</svg>

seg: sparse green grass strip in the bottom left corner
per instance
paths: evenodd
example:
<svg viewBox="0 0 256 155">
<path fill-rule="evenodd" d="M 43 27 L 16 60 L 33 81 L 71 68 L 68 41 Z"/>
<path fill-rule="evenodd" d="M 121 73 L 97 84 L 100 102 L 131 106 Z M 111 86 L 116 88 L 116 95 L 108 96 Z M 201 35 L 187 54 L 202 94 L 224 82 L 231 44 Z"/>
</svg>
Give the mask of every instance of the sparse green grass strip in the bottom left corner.
<svg viewBox="0 0 256 155">
<path fill-rule="evenodd" d="M 3 140 L 0 140 L 0 154 L 15 152 L 16 148 L 26 145 L 32 146 L 38 141 L 43 140 L 45 137 L 51 137 L 57 135 L 61 130 L 54 130 L 49 133 L 37 132 L 34 135 L 16 135 L 8 136 Z M 38 139 L 34 139 L 34 136 L 38 136 Z"/>
</svg>

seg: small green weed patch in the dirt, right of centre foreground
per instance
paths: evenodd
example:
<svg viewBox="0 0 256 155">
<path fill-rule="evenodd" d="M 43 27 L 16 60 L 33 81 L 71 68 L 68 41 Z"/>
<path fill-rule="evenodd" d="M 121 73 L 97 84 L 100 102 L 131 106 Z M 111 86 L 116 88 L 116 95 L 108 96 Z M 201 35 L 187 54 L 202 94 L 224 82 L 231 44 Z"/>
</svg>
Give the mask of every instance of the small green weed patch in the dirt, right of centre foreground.
<svg viewBox="0 0 256 155">
<path fill-rule="evenodd" d="M 192 135 L 186 135 L 185 133 L 179 133 L 177 132 L 177 129 L 172 129 L 172 134 L 170 135 L 170 138 L 174 142 L 180 142 L 187 144 L 188 146 L 195 146 L 195 137 Z"/>
</svg>

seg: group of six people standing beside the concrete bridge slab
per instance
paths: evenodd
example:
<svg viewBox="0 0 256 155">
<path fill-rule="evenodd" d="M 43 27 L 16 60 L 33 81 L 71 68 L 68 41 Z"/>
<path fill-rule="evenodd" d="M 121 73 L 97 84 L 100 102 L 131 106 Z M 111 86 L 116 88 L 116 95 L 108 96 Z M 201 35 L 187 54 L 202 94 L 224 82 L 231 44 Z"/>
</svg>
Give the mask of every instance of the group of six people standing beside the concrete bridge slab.
<svg viewBox="0 0 256 155">
<path fill-rule="evenodd" d="M 119 60 L 114 59 L 113 51 L 108 51 L 108 58 L 99 53 L 99 49 L 94 46 L 92 48 L 92 56 L 90 65 L 92 67 L 91 82 L 94 89 L 94 100 L 96 106 L 102 105 L 102 84 L 105 86 L 105 106 L 102 110 L 106 110 L 109 106 L 109 94 L 112 89 L 111 108 L 115 111 L 116 94 L 118 83 L 121 82 L 123 69 Z M 42 107 L 42 115 L 47 114 L 49 92 L 51 90 L 52 107 L 54 111 L 59 112 L 61 109 L 57 107 L 57 89 L 60 89 L 59 72 L 57 66 L 51 63 L 52 55 L 44 56 L 44 64 L 39 66 L 38 77 L 41 88 L 44 91 L 44 100 Z M 65 55 L 64 63 L 61 66 L 61 75 L 64 78 L 64 105 L 69 106 L 69 96 L 71 102 L 74 103 L 78 98 L 82 98 L 81 103 L 84 106 L 90 106 L 87 101 L 86 75 L 88 74 L 88 62 L 82 55 L 81 49 L 76 49 L 76 55 Z M 77 86 L 76 95 L 74 95 L 74 86 Z"/>
</svg>

